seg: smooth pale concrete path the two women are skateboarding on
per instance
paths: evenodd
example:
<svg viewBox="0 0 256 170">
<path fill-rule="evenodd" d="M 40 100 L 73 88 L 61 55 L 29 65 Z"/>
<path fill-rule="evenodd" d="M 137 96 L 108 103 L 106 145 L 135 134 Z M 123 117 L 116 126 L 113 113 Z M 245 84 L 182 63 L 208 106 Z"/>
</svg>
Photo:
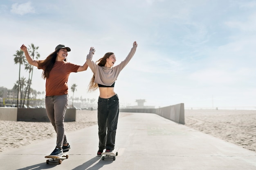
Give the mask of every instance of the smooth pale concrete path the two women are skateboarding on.
<svg viewBox="0 0 256 170">
<path fill-rule="evenodd" d="M 122 114 L 122 113 L 120 113 Z M 101 160 L 98 126 L 67 133 L 69 158 L 46 164 L 55 137 L 0 153 L 1 170 L 256 170 L 256 153 L 153 113 L 119 118 L 116 160 Z"/>
</svg>

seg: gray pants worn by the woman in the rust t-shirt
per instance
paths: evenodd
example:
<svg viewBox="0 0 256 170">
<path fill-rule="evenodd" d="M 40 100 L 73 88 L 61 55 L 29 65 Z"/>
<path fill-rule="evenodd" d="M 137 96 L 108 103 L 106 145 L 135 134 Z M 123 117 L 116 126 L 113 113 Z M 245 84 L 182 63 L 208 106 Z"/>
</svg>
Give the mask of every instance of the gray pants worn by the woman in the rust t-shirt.
<svg viewBox="0 0 256 170">
<path fill-rule="evenodd" d="M 62 148 L 67 144 L 64 133 L 64 117 L 67 110 L 68 94 L 61 96 L 45 96 L 45 108 L 47 116 L 57 133 L 56 147 Z"/>
</svg>

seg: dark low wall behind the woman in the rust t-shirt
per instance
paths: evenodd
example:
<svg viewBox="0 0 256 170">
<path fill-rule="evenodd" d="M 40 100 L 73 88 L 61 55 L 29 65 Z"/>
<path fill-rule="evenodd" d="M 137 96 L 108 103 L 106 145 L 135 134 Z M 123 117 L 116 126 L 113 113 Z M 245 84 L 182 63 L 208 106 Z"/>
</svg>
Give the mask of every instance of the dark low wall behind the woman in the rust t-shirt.
<svg viewBox="0 0 256 170">
<path fill-rule="evenodd" d="M 17 121 L 24 122 L 50 122 L 45 108 L 18 108 Z M 65 122 L 76 121 L 76 109 L 67 109 Z"/>
</svg>

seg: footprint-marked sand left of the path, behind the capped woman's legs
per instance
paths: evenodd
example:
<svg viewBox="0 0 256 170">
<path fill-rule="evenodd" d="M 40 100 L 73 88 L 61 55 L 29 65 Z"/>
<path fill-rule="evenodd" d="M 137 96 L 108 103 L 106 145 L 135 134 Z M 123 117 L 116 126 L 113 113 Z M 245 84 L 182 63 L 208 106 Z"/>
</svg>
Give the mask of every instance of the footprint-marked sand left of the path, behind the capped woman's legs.
<svg viewBox="0 0 256 170">
<path fill-rule="evenodd" d="M 76 111 L 76 122 L 64 122 L 71 132 L 97 124 L 97 111 Z M 50 122 L 15 122 L 0 120 L 0 152 L 56 137 Z"/>
</svg>

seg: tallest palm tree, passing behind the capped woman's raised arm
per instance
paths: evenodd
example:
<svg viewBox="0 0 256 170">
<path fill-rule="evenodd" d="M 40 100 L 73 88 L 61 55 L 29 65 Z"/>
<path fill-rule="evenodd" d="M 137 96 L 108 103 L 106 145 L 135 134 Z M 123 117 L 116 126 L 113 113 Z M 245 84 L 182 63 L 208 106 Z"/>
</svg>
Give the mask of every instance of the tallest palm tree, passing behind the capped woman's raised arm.
<svg viewBox="0 0 256 170">
<path fill-rule="evenodd" d="M 40 57 L 40 54 L 37 52 L 38 48 L 39 47 L 34 46 L 33 43 L 31 43 L 31 46 L 29 46 L 28 51 L 31 54 L 33 59 L 34 59 L 34 57 L 36 57 L 36 59 L 39 59 L 39 57 Z M 33 65 L 30 65 L 30 64 L 29 64 L 29 66 L 26 65 L 26 68 L 25 68 L 26 70 L 29 70 L 29 80 L 28 80 L 28 84 L 27 84 L 27 87 L 28 87 L 27 88 L 28 89 L 27 105 L 29 105 L 29 94 L 30 94 L 30 86 L 31 86 L 31 81 L 32 81 L 32 76 L 33 76 L 33 68 L 34 68 Z M 31 77 L 30 77 L 30 73 L 31 73 Z"/>
</svg>

